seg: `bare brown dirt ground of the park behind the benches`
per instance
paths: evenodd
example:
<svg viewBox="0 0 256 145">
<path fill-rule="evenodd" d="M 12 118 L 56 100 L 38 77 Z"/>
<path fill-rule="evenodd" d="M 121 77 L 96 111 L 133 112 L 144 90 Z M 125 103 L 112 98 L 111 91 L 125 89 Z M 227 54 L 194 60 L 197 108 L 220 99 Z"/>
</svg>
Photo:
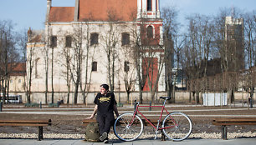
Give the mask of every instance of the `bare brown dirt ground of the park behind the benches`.
<svg viewBox="0 0 256 145">
<path fill-rule="evenodd" d="M 11 109 L 12 107 L 6 107 Z M 17 108 L 17 107 L 15 107 Z M 26 107 L 21 107 L 21 109 Z M 71 107 L 70 111 L 72 110 Z M 86 107 L 81 107 L 84 109 Z M 92 107 L 90 107 L 92 108 Z M 172 110 L 173 112 L 186 110 L 186 114 L 190 116 L 192 119 L 192 133 L 221 133 L 221 128 L 218 126 L 212 125 L 212 119 L 215 117 L 193 117 L 192 115 L 256 115 L 256 110 L 233 110 L 234 108 L 239 107 L 232 107 L 232 110 L 229 110 L 230 107 L 169 107 L 168 110 Z M 243 107 L 247 108 L 247 107 Z M 93 108 L 92 108 L 93 109 Z M 119 108 L 120 110 L 127 112 L 131 112 L 130 109 L 125 109 L 125 107 Z M 160 109 L 160 108 L 159 108 Z M 198 111 L 198 110 L 206 110 L 207 111 Z M 214 109 L 214 110 L 213 110 Z M 216 109 L 224 109 L 222 111 L 216 111 Z M 3 108 L 4 110 L 4 108 Z M 44 109 L 43 109 L 44 110 Z M 153 109 L 155 110 L 155 108 Z M 187 110 L 189 110 L 187 112 Z M 197 111 L 193 111 L 197 110 Z M 31 111 L 31 110 L 29 110 Z M 50 110 L 58 112 L 58 108 L 54 110 Z M 69 109 L 65 110 L 69 111 Z M 83 111 L 81 111 L 83 112 Z M 223 116 L 222 116 L 223 117 Z M 52 126 L 44 128 L 44 133 L 64 133 L 64 134 L 83 134 L 85 127 L 82 125 L 82 120 L 84 120 L 85 116 L 83 115 L 51 115 L 51 114 L 14 114 L 14 113 L 0 113 L 0 119 L 51 119 L 53 124 Z M 256 132 L 256 126 L 230 126 L 228 127 L 228 133 L 248 133 Z M 0 133 L 38 133 L 38 128 L 34 127 L 0 127 Z"/>
</svg>

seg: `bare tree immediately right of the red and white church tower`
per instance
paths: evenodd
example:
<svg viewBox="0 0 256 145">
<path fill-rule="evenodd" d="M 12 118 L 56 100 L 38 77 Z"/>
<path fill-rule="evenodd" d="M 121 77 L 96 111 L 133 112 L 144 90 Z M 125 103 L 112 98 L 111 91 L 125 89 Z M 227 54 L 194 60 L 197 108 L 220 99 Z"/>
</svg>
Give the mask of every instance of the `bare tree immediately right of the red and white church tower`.
<svg viewBox="0 0 256 145">
<path fill-rule="evenodd" d="M 166 91 L 168 96 L 172 97 L 170 102 L 175 102 L 175 76 L 178 75 L 178 70 L 180 68 L 180 51 L 184 43 L 181 35 L 179 35 L 180 24 L 177 23 L 177 13 L 178 11 L 176 7 L 164 7 L 161 11 L 161 18 L 163 19 L 163 35 L 166 57 Z M 175 64 L 177 67 L 177 72 L 172 72 L 172 68 Z"/>
</svg>

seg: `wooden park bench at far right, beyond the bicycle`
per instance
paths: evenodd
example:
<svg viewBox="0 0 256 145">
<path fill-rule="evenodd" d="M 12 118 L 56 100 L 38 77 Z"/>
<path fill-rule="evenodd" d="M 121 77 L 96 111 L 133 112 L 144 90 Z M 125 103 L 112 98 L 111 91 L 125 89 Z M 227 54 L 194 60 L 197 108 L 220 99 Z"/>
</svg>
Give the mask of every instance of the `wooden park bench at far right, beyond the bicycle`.
<svg viewBox="0 0 256 145">
<path fill-rule="evenodd" d="M 231 125 L 256 125 L 256 118 L 215 118 L 213 125 L 219 125 L 222 128 L 222 138 L 227 140 L 227 126 Z"/>
</svg>

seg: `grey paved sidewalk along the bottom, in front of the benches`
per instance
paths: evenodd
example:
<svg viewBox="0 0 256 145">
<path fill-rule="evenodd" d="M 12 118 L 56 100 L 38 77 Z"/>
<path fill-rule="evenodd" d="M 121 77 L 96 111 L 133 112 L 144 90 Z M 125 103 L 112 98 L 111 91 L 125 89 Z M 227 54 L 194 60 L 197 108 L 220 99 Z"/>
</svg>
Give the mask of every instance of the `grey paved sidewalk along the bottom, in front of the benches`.
<svg viewBox="0 0 256 145">
<path fill-rule="evenodd" d="M 169 144 L 189 144 L 189 145 L 255 145 L 256 138 L 239 138 L 239 139 L 187 139 L 182 142 L 172 142 L 172 141 L 161 141 L 161 140 L 136 140 L 134 142 L 121 142 L 120 140 L 110 140 L 108 144 L 122 144 L 122 145 L 169 145 Z M 34 139 L 0 139 L 0 145 L 30 145 L 30 144 L 39 144 L 39 145 L 97 145 L 104 143 L 89 143 L 81 139 L 44 139 L 43 141 L 37 141 Z"/>
</svg>

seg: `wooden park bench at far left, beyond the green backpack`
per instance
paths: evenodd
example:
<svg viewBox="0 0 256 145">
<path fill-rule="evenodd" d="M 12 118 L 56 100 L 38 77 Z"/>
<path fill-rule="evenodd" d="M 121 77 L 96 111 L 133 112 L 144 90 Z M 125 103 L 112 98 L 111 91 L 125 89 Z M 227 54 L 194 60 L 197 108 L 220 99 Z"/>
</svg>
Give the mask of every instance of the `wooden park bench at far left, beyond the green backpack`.
<svg viewBox="0 0 256 145">
<path fill-rule="evenodd" d="M 51 119 L 47 120 L 0 120 L 0 126 L 38 127 L 38 141 L 43 139 L 43 127 L 50 126 Z"/>
</svg>

